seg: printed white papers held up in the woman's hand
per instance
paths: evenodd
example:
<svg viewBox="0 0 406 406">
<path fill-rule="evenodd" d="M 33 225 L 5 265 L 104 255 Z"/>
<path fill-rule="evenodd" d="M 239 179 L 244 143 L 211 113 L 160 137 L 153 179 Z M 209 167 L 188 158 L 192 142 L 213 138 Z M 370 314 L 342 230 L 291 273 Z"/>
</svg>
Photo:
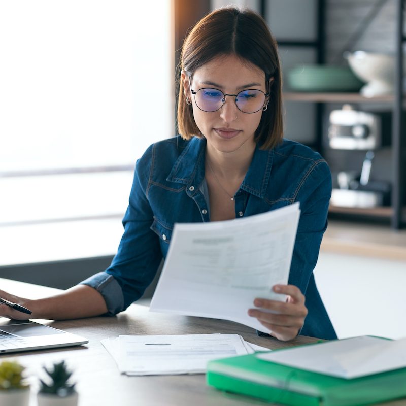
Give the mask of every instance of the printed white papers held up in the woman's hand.
<svg viewBox="0 0 406 406">
<path fill-rule="evenodd" d="M 299 204 L 242 219 L 175 224 L 150 311 L 226 319 L 269 332 L 248 316 L 256 297 L 280 300 L 288 282 Z"/>
</svg>

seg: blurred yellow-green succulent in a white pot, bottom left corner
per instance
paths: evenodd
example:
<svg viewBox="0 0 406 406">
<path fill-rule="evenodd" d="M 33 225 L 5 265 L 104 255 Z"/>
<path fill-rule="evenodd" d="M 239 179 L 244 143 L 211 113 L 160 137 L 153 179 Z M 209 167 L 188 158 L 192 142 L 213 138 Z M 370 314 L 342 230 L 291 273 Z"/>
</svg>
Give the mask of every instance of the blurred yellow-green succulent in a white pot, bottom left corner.
<svg viewBox="0 0 406 406">
<path fill-rule="evenodd" d="M 0 404 L 2 406 L 28 406 L 29 385 L 25 382 L 25 367 L 18 361 L 0 363 Z"/>
</svg>

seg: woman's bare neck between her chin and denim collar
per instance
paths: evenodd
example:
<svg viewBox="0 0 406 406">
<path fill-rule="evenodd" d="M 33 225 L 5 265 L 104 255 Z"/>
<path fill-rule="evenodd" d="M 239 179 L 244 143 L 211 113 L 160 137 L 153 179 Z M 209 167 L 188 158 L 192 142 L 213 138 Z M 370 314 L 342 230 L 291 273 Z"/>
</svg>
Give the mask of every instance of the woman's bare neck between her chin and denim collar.
<svg viewBox="0 0 406 406">
<path fill-rule="evenodd" d="M 255 151 L 255 143 L 250 148 L 233 152 L 221 152 L 206 146 L 206 159 L 217 176 L 228 180 L 244 178 L 251 164 Z"/>
</svg>

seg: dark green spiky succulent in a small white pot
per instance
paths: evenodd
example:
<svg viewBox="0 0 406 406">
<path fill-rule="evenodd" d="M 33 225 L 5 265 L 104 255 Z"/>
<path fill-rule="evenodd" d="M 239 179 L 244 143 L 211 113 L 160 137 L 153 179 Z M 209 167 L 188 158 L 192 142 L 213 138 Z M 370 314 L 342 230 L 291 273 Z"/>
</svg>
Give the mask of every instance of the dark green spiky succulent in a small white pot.
<svg viewBox="0 0 406 406">
<path fill-rule="evenodd" d="M 77 406 L 78 392 L 75 384 L 69 382 L 72 371 L 67 369 L 65 361 L 54 363 L 49 369 L 44 366 L 44 370 L 49 383 L 40 379 L 38 406 Z"/>
</svg>

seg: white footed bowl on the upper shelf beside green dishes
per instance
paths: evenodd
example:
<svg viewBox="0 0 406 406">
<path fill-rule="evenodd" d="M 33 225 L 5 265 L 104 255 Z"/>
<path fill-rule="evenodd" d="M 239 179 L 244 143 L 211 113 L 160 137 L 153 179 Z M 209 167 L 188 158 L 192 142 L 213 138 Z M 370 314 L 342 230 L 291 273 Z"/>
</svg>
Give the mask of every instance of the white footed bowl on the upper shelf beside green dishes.
<svg viewBox="0 0 406 406">
<path fill-rule="evenodd" d="M 344 57 L 358 78 L 367 82 L 360 90 L 365 97 L 393 93 L 395 82 L 395 57 L 365 51 L 346 52 Z"/>
</svg>

